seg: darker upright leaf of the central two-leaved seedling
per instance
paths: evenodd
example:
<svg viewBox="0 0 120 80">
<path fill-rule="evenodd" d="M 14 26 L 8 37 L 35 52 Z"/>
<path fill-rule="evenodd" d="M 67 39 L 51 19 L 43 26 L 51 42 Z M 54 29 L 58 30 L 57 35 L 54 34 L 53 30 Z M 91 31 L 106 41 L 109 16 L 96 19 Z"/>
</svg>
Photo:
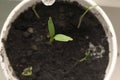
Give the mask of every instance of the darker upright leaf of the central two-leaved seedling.
<svg viewBox="0 0 120 80">
<path fill-rule="evenodd" d="M 55 28 L 52 21 L 52 17 L 49 17 L 49 20 L 48 20 L 48 30 L 49 30 L 50 37 L 53 37 L 55 35 Z"/>
</svg>

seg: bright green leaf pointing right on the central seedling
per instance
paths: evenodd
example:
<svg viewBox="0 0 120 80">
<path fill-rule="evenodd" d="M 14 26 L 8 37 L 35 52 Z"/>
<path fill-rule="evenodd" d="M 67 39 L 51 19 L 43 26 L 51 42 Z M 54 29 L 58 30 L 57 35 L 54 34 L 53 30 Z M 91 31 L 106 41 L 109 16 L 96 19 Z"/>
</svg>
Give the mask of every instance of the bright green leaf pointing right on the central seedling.
<svg viewBox="0 0 120 80">
<path fill-rule="evenodd" d="M 72 41 L 73 38 L 69 37 L 69 36 L 66 36 L 64 34 L 57 34 L 54 36 L 54 39 L 56 41 L 62 41 L 62 42 L 68 42 L 68 41 Z"/>
</svg>

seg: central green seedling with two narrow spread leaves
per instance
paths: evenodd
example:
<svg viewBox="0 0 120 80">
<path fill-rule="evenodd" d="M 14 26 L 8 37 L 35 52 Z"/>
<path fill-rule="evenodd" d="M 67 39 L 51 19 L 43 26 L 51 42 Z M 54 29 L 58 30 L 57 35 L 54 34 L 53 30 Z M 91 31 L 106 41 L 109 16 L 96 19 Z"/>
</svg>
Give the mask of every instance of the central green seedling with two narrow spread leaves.
<svg viewBox="0 0 120 80">
<path fill-rule="evenodd" d="M 53 40 L 61 41 L 61 42 L 68 42 L 68 41 L 73 40 L 73 38 L 71 38 L 67 35 L 55 34 L 55 27 L 54 27 L 54 23 L 52 21 L 52 17 L 49 17 L 49 20 L 48 20 L 48 31 L 49 31 L 49 35 L 50 35 L 50 42 L 53 42 Z"/>
</svg>

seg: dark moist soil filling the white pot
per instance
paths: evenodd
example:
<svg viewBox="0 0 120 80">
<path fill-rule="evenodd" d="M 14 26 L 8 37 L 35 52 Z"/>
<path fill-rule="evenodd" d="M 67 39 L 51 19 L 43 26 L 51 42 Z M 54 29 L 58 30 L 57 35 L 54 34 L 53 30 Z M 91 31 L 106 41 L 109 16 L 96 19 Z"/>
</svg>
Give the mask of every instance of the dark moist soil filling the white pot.
<svg viewBox="0 0 120 80">
<path fill-rule="evenodd" d="M 35 16 L 31 7 L 20 14 L 12 23 L 5 44 L 8 58 L 18 78 L 103 80 L 109 60 L 109 46 L 103 27 L 97 18 L 92 13 L 87 13 L 78 29 L 79 17 L 85 9 L 76 2 L 56 2 L 50 7 L 39 3 L 36 11 L 40 19 Z M 74 40 L 54 41 L 49 44 L 47 27 L 49 16 L 53 18 L 56 34 L 65 34 Z M 94 48 L 90 48 L 90 44 Z M 86 61 L 79 62 L 88 50 L 90 56 Z M 98 54 L 99 52 L 102 55 Z M 21 75 L 29 66 L 33 67 L 32 75 L 27 77 Z"/>
</svg>

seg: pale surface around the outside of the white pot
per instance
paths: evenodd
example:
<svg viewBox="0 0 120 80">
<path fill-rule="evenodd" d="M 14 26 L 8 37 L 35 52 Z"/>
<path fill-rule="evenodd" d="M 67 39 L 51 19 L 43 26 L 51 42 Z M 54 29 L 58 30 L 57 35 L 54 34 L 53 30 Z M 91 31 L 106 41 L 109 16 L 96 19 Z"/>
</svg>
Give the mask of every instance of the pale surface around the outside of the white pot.
<svg viewBox="0 0 120 80">
<path fill-rule="evenodd" d="M 101 1 L 103 1 L 104 3 L 107 3 L 108 0 L 99 0 L 100 4 L 102 3 Z M 116 2 L 116 0 L 114 0 L 114 2 L 116 2 L 117 4 L 114 4 L 114 5 L 113 5 L 113 0 L 109 0 L 109 2 L 112 3 L 112 6 L 120 4 L 120 1 Z M 8 13 L 10 13 L 10 11 L 13 9 L 13 7 L 16 4 L 18 4 L 18 2 L 16 2 L 16 1 L 0 0 L 0 11 L 1 11 L 0 14 L 2 15 L 2 16 L 0 15 L 0 28 L 2 27 L 3 22 L 5 21 Z M 103 9 L 108 14 L 109 18 L 111 19 L 111 21 L 113 23 L 113 26 L 114 26 L 115 31 L 117 33 L 118 43 L 119 43 L 119 47 L 120 47 L 120 32 L 119 32 L 119 30 L 120 30 L 120 27 L 119 27 L 119 25 L 120 25 L 120 22 L 119 22 L 119 20 L 120 20 L 120 15 L 119 15 L 120 8 L 103 7 Z M 118 58 L 116 69 L 114 71 L 114 75 L 112 76 L 111 80 L 120 80 L 119 74 L 120 74 L 120 56 Z M 2 73 L 2 70 L 1 70 L 1 66 L 0 66 L 0 80 L 5 80 L 4 75 Z"/>
</svg>

